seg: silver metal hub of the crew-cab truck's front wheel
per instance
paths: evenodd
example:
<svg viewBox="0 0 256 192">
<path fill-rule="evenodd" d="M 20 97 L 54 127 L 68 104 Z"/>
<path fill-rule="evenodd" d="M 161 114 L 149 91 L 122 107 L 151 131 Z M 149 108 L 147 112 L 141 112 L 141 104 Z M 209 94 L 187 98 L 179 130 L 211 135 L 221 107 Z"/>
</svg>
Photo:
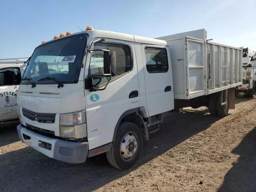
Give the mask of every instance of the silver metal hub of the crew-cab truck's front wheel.
<svg viewBox="0 0 256 192">
<path fill-rule="evenodd" d="M 134 158 L 138 150 L 138 141 L 132 132 L 126 134 L 120 145 L 120 153 L 124 160 L 129 161 Z"/>
</svg>

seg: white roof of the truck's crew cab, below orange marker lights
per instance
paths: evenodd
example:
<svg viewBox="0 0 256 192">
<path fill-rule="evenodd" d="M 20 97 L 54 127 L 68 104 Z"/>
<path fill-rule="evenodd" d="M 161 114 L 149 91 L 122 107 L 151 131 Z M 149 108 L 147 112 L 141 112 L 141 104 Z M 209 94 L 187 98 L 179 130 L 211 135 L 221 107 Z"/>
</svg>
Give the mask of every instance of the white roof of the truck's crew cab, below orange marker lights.
<svg viewBox="0 0 256 192">
<path fill-rule="evenodd" d="M 86 30 L 83 32 L 82 31 L 76 32 L 76 33 L 66 35 L 66 36 L 72 36 L 72 35 L 82 34 L 82 33 L 86 33 L 89 35 L 89 37 L 92 36 L 92 38 L 97 38 L 97 37 L 111 38 L 111 39 L 118 39 L 118 40 L 130 41 L 130 42 L 139 42 L 139 43 L 144 43 L 144 44 L 153 44 L 153 45 L 162 45 L 162 46 L 166 46 L 166 44 L 167 44 L 167 42 L 164 40 L 135 36 L 135 35 L 112 32 L 112 31 L 104 31 L 104 30 Z M 65 38 L 66 36 L 62 36 L 62 37 L 59 37 L 56 39 L 49 40 L 46 43 L 52 42 L 54 40 L 58 40 L 60 38 Z M 41 46 L 41 45 L 42 44 L 40 44 L 39 46 Z"/>
</svg>

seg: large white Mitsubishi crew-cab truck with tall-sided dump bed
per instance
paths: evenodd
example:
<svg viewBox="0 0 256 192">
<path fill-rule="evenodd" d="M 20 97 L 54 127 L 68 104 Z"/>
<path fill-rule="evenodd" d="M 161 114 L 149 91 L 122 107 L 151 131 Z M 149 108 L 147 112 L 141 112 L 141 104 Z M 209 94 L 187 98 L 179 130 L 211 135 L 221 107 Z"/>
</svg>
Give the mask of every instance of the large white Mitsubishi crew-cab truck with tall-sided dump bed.
<svg viewBox="0 0 256 192">
<path fill-rule="evenodd" d="M 159 39 L 91 27 L 60 34 L 28 62 L 18 135 L 56 160 L 82 163 L 106 152 L 124 170 L 174 106 L 226 116 L 241 68 L 242 49 L 208 42 L 204 29 Z"/>
</svg>

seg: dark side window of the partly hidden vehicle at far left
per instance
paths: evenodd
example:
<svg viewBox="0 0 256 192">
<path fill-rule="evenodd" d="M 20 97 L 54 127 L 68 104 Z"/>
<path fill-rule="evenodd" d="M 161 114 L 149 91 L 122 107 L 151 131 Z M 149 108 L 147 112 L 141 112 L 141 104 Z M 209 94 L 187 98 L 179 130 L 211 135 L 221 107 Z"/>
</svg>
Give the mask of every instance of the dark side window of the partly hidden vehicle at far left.
<svg viewBox="0 0 256 192">
<path fill-rule="evenodd" d="M 0 86 L 19 85 L 21 74 L 19 68 L 0 69 Z"/>
</svg>

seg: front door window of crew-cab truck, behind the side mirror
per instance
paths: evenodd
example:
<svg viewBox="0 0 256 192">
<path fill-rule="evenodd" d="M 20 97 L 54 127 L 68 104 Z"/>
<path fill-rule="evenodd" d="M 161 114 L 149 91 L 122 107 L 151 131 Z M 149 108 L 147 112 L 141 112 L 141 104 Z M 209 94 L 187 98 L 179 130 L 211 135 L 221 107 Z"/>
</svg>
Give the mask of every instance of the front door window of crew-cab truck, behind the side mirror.
<svg viewBox="0 0 256 192">
<path fill-rule="evenodd" d="M 94 49 L 109 49 L 116 52 L 116 74 L 111 77 L 114 80 L 132 69 L 131 50 L 128 45 L 96 43 Z M 89 74 L 104 74 L 103 51 L 93 51 L 90 60 Z M 108 82 L 108 78 L 98 78 L 93 80 L 95 88 L 103 86 Z"/>
</svg>

